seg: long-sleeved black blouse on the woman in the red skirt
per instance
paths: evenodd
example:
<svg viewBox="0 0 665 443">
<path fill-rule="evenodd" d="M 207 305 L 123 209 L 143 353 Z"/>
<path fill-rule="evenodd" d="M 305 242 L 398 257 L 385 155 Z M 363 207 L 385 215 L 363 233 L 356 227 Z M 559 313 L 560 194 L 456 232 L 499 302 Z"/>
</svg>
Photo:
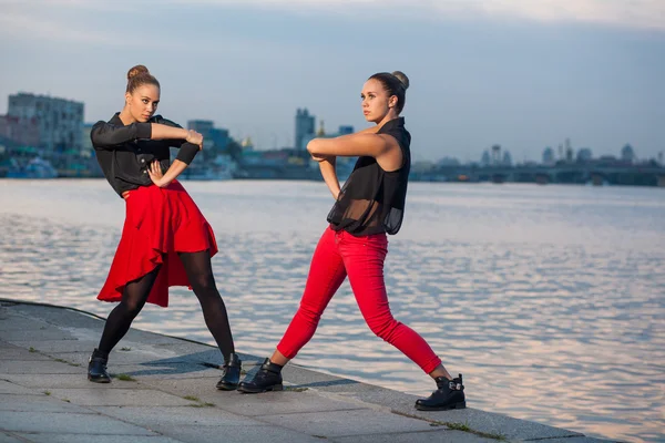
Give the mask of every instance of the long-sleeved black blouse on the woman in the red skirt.
<svg viewBox="0 0 665 443">
<path fill-rule="evenodd" d="M 100 167 L 121 197 L 125 190 L 153 184 L 147 174 L 147 168 L 153 161 L 160 162 L 162 172 L 168 169 L 171 166 L 170 146 L 180 147 L 176 158 L 187 165 L 192 163 L 198 152 L 197 145 L 184 140 L 150 140 L 151 123 L 181 127 L 161 115 L 153 116 L 146 123 L 125 125 L 120 120 L 120 113 L 115 113 L 109 122 L 100 121 L 92 126 L 90 138 Z"/>
</svg>

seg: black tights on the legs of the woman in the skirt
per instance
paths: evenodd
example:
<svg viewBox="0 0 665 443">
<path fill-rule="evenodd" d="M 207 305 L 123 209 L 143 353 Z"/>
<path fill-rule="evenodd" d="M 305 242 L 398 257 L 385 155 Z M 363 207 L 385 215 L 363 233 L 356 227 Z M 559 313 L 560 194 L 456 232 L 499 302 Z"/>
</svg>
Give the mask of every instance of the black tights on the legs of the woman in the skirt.
<svg viewBox="0 0 665 443">
<path fill-rule="evenodd" d="M 190 285 L 192 285 L 192 289 L 203 309 L 205 324 L 215 338 L 224 359 L 228 359 L 229 354 L 235 352 L 235 348 L 231 326 L 228 324 L 228 316 L 226 315 L 226 307 L 215 285 L 209 253 L 208 250 L 180 253 L 178 256 L 187 272 Z M 130 281 L 125 286 L 121 302 L 111 311 L 106 319 L 104 332 L 100 340 L 100 352 L 111 352 L 115 344 L 127 333 L 132 321 L 141 312 L 147 300 L 160 268 L 161 265 L 153 271 L 137 280 Z"/>
</svg>

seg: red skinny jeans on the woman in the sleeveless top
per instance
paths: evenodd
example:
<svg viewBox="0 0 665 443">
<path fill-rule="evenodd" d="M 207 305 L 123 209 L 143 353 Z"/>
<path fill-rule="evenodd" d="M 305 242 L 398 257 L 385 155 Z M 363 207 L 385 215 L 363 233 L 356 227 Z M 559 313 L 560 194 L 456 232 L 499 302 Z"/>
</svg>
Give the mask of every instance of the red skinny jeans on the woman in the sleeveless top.
<svg viewBox="0 0 665 443">
<path fill-rule="evenodd" d="M 355 237 L 327 228 L 314 251 L 300 307 L 277 350 L 296 357 L 314 336 L 328 302 L 348 276 L 360 312 L 369 329 L 399 349 L 430 373 L 441 359 L 416 331 L 392 318 L 383 282 L 383 260 L 388 253 L 386 234 Z"/>
</svg>

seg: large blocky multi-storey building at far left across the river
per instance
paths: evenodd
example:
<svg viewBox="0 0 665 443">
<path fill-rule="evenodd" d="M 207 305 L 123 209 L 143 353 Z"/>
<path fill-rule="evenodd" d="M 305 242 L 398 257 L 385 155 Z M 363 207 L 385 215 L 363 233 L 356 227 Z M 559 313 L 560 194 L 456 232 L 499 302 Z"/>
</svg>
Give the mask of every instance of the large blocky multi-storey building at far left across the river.
<svg viewBox="0 0 665 443">
<path fill-rule="evenodd" d="M 83 146 L 83 107 L 81 102 L 21 92 L 9 96 L 7 115 L 21 122 L 35 120 L 39 146 L 47 154 L 63 153 Z"/>
</svg>

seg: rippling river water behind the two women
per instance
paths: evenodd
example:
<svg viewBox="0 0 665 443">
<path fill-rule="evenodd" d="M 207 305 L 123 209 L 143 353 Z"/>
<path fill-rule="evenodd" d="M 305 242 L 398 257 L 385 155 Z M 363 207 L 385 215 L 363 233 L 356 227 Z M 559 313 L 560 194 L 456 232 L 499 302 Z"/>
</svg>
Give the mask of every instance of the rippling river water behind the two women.
<svg viewBox="0 0 665 443">
<path fill-rule="evenodd" d="M 186 183 L 213 225 L 238 350 L 272 352 L 297 308 L 330 205 L 318 183 Z M 0 182 L 0 296 L 106 316 L 95 300 L 123 203 L 101 181 Z M 419 331 L 469 404 L 626 441 L 665 439 L 663 189 L 413 184 L 390 237 L 395 317 Z M 286 210 L 285 210 L 286 208 Z M 135 326 L 206 341 L 172 290 Z M 369 331 L 348 282 L 296 361 L 405 392 L 428 377 Z"/>
</svg>

